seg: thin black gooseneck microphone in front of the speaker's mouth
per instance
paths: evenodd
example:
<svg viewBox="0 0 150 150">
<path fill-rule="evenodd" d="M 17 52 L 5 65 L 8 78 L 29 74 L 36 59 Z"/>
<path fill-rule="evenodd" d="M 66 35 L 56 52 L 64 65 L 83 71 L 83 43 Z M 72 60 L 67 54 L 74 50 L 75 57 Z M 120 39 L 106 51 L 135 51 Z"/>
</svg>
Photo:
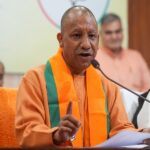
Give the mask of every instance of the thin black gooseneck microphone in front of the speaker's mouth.
<svg viewBox="0 0 150 150">
<path fill-rule="evenodd" d="M 98 69 L 98 70 L 104 75 L 104 77 L 106 77 L 106 78 L 107 78 L 108 80 L 110 80 L 111 82 L 113 82 L 113 83 L 119 85 L 120 87 L 126 89 L 127 91 L 131 92 L 132 94 L 134 94 L 134 95 L 140 97 L 142 100 L 147 101 L 148 103 L 150 103 L 150 100 L 146 99 L 145 97 L 143 97 L 143 96 L 137 94 L 136 92 L 134 92 L 134 91 L 128 89 L 127 87 L 123 86 L 122 84 L 120 84 L 120 83 L 118 83 L 118 82 L 112 80 L 111 78 L 109 78 L 109 77 L 101 70 L 100 64 L 98 63 L 97 60 L 93 59 L 93 60 L 91 61 L 91 64 L 93 65 L 94 68 Z"/>
</svg>

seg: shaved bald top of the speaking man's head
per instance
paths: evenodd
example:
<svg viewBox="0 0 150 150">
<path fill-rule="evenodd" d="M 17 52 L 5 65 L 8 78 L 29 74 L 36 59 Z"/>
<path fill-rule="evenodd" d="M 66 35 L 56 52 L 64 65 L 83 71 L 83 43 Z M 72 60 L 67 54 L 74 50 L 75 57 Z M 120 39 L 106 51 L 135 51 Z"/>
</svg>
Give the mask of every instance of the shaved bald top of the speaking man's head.
<svg viewBox="0 0 150 150">
<path fill-rule="evenodd" d="M 73 7 L 69 8 L 68 10 L 66 10 L 66 12 L 63 14 L 63 16 L 61 18 L 61 32 L 63 32 L 65 24 L 66 24 L 67 21 L 69 21 L 70 19 L 77 18 L 77 17 L 82 17 L 82 16 L 85 16 L 85 15 L 89 15 L 90 17 L 92 17 L 93 20 L 96 23 L 95 16 L 93 15 L 93 13 L 87 7 L 73 6 Z"/>
</svg>

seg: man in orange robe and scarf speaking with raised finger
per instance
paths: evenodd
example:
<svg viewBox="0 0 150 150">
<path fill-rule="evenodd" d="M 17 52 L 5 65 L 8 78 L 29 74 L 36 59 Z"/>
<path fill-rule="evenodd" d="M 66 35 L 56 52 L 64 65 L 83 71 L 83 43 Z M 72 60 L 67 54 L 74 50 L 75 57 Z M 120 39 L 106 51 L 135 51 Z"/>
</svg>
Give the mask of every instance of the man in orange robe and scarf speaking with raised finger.
<svg viewBox="0 0 150 150">
<path fill-rule="evenodd" d="M 22 146 L 95 146 L 128 122 L 118 88 L 91 61 L 98 49 L 98 27 L 83 6 L 68 9 L 57 34 L 58 53 L 29 71 L 19 87 L 16 135 Z"/>
</svg>

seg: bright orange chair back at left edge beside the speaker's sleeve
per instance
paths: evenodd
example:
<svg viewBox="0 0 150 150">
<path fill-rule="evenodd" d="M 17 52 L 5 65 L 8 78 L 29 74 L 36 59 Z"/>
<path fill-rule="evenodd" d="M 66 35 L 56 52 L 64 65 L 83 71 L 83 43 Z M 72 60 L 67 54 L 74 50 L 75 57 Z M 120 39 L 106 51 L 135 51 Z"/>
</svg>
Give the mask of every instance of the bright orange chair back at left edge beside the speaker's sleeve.
<svg viewBox="0 0 150 150">
<path fill-rule="evenodd" d="M 0 88 L 0 147 L 19 147 L 15 137 L 17 89 Z"/>
</svg>

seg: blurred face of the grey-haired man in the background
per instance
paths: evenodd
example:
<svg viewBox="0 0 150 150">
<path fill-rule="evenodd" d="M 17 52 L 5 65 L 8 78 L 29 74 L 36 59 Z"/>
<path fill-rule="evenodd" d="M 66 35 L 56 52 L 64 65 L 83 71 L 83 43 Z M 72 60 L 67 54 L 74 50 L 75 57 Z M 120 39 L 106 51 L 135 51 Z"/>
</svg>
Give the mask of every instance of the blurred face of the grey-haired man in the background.
<svg viewBox="0 0 150 150">
<path fill-rule="evenodd" d="M 118 51 L 121 49 L 123 40 L 122 26 L 120 21 L 116 20 L 111 23 L 102 25 L 101 40 L 103 46 L 112 51 Z"/>
</svg>

